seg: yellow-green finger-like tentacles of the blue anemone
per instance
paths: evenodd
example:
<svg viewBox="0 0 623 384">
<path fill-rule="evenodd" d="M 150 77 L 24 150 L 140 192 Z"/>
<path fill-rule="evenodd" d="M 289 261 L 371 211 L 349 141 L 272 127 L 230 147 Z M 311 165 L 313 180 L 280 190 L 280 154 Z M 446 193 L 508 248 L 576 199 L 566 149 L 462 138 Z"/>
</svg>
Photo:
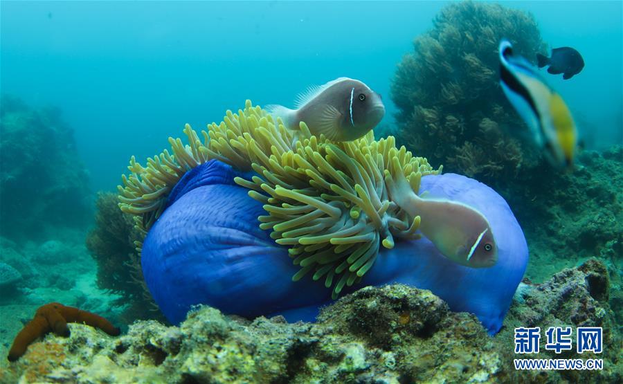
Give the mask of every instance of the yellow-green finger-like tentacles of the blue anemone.
<svg viewBox="0 0 623 384">
<path fill-rule="evenodd" d="M 333 298 L 361 280 L 381 246 L 419 238 L 420 218 L 390 201 L 386 177 L 401 172 L 417 193 L 422 176 L 442 171 L 404 146 L 397 148 L 393 136 L 374 140 L 370 131 L 336 143 L 312 136 L 305 122 L 300 131 L 291 131 L 249 100 L 244 110 L 227 111 L 223 122 L 201 131 L 203 140 L 188 124 L 183 132 L 188 144 L 169 138 L 171 154 L 165 149 L 145 167 L 130 159 L 131 174 L 118 187 L 121 210 L 136 215 L 136 226 L 146 233 L 174 185 L 197 165 L 216 159 L 253 171 L 250 180 L 234 181 L 264 204 L 267 215 L 258 217 L 260 228 L 272 230 L 271 238 L 289 247 L 300 266 L 292 279 L 324 278 Z"/>
</svg>

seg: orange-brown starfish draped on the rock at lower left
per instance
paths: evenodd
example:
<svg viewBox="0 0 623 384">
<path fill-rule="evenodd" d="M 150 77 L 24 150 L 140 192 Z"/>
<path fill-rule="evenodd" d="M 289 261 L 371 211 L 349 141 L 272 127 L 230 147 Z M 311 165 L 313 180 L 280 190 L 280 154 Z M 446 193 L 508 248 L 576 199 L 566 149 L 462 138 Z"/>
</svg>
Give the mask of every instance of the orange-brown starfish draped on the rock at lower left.
<svg viewBox="0 0 623 384">
<path fill-rule="evenodd" d="M 58 336 L 69 337 L 68 322 L 80 322 L 105 331 L 110 336 L 118 336 L 120 329 L 114 327 L 108 320 L 95 313 L 82 311 L 74 307 L 65 307 L 63 304 L 51 302 L 37 309 L 35 317 L 17 333 L 8 354 L 9 361 L 15 361 L 26 353 L 28 345 L 37 338 L 53 331 Z"/>
</svg>

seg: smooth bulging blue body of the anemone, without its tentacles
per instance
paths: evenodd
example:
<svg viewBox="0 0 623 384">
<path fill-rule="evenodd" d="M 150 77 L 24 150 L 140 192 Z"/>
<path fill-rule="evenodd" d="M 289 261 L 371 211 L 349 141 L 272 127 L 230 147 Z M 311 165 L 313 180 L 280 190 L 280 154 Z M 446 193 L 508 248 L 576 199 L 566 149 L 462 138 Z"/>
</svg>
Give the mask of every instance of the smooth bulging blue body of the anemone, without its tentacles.
<svg viewBox="0 0 623 384">
<path fill-rule="evenodd" d="M 233 182 L 242 174 L 219 161 L 188 172 L 143 242 L 145 282 L 161 311 L 177 324 L 196 304 L 247 318 L 281 314 L 289 321 L 314 320 L 331 302 L 331 290 L 309 276 L 291 280 L 299 267 L 287 248 L 260 230 L 262 204 Z M 430 289 L 453 311 L 474 313 L 496 333 L 527 264 L 523 232 L 504 199 L 478 181 L 457 174 L 424 176 L 420 191 L 460 201 L 487 217 L 498 245 L 498 263 L 468 268 L 442 256 L 425 238 L 381 248 L 365 285 L 403 283 Z"/>
</svg>

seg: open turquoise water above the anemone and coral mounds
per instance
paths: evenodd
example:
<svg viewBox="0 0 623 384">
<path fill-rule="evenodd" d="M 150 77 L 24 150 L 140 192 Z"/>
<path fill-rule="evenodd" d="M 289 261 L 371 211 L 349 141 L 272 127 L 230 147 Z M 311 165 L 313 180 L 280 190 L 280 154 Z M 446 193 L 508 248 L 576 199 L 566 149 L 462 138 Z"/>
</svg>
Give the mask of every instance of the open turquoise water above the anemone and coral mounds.
<svg viewBox="0 0 623 384">
<path fill-rule="evenodd" d="M 548 80 L 590 125 L 590 145 L 620 142 L 620 1 L 505 1 L 532 12 L 543 41 L 586 66 Z M 226 109 L 292 105 L 307 86 L 358 78 L 383 95 L 413 37 L 444 1 L 3 1 L 1 88 L 53 104 L 75 129 L 95 190 L 113 190 L 129 154 L 152 156 L 188 122 Z M 582 129 L 582 127 L 580 127 Z"/>
</svg>

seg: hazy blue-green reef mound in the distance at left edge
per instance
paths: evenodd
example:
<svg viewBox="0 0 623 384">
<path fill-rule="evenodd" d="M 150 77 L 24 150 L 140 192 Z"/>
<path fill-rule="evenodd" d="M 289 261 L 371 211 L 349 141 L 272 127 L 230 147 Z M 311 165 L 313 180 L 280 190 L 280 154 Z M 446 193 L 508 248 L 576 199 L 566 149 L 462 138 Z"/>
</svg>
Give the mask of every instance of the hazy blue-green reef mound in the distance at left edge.
<svg viewBox="0 0 623 384">
<path fill-rule="evenodd" d="M 30 109 L 3 95 L 0 137 L 1 236 L 45 238 L 89 223 L 87 171 L 58 109 Z"/>
</svg>

